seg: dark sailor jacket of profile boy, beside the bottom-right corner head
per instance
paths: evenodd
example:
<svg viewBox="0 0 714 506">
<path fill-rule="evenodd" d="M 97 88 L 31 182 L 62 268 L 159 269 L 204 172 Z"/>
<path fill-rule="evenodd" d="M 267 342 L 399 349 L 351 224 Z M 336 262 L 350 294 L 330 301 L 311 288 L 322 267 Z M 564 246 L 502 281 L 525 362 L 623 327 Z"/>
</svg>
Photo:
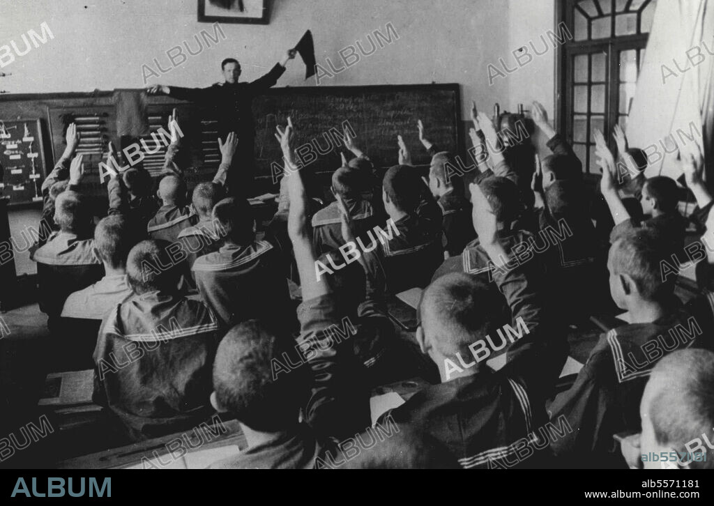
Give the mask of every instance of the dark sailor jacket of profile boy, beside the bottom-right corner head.
<svg viewBox="0 0 714 506">
<path fill-rule="evenodd" d="M 574 429 L 553 442 L 555 452 L 593 467 L 617 462 L 613 434 L 639 432 L 640 400 L 650 371 L 674 350 L 711 348 L 705 328 L 680 306 L 653 323 L 624 325 L 600 335 L 575 385 L 550 406 L 551 418 L 565 415 Z"/>
</svg>

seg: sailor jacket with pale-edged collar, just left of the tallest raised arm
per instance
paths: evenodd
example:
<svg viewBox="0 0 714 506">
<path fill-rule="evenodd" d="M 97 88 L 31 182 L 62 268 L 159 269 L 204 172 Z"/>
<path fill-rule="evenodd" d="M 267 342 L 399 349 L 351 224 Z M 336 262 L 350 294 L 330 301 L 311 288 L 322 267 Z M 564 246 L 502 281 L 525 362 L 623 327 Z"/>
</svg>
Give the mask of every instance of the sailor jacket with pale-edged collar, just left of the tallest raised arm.
<svg viewBox="0 0 714 506">
<path fill-rule="evenodd" d="M 290 295 L 277 249 L 268 241 L 224 244 L 193 263 L 201 298 L 229 326 L 258 319 L 289 323 Z"/>
</svg>

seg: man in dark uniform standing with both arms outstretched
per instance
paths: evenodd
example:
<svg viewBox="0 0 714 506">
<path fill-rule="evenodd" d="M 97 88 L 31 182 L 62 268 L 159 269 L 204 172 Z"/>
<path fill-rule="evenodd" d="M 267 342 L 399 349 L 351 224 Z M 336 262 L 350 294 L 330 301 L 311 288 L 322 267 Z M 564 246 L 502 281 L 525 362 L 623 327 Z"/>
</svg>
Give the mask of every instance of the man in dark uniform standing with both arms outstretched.
<svg viewBox="0 0 714 506">
<path fill-rule="evenodd" d="M 223 79 L 226 80 L 223 83 L 216 83 L 208 88 L 179 88 L 156 84 L 146 91 L 150 95 L 163 93 L 213 108 L 218 118 L 218 136 L 226 138 L 229 132 L 235 132 L 239 139 L 238 151 L 233 158 L 233 167 L 236 170 L 230 171 L 226 186 L 231 193 L 247 197 L 251 196 L 255 170 L 256 130 L 251 108 L 253 98 L 275 86 L 285 72 L 286 64 L 295 58 L 295 55 L 294 49 L 289 50 L 283 63 L 276 64 L 268 74 L 252 83 L 238 82 L 241 64 L 236 59 L 228 58 L 221 64 Z"/>
</svg>

